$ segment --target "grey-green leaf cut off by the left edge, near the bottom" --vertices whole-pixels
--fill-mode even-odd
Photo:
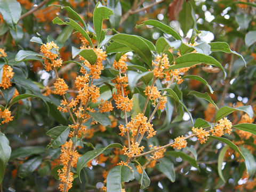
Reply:
[[[0,141],[0,183],[2,183],[4,178],[4,169],[10,159],[12,149],[9,145],[9,140],[1,132]]]

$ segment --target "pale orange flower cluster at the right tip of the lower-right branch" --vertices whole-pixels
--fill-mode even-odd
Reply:
[[[232,123],[225,117],[224,119],[220,119],[219,124],[215,127],[211,128],[210,132],[212,135],[221,137],[224,132],[230,134],[232,131]]]

